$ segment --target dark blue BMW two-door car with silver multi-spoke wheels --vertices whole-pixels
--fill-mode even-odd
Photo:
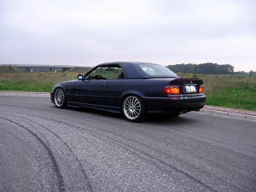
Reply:
[[[167,67],[143,62],[109,62],[78,79],[55,84],[50,92],[57,108],[96,108],[123,113],[139,122],[148,113],[198,111],[205,105],[202,79],[182,79]]]

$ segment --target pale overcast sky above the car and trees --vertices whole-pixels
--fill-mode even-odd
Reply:
[[[256,71],[256,0],[0,0],[0,63]]]

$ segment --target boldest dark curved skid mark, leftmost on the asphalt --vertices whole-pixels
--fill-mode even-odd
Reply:
[[[43,145],[43,147],[45,148],[47,154],[49,155],[50,160],[52,161],[52,164],[53,164],[52,168],[53,168],[53,170],[54,170],[54,172],[55,172],[55,174],[56,174],[57,183],[58,183],[58,189],[59,189],[59,191],[61,191],[61,192],[65,192],[65,191],[66,191],[66,189],[65,189],[65,184],[64,184],[63,177],[62,177],[62,175],[61,175],[60,167],[59,167],[59,165],[58,165],[58,163],[57,163],[57,160],[55,159],[55,156],[54,156],[54,154],[52,153],[51,149],[49,148],[49,146],[48,146],[46,143],[44,143],[44,141],[42,140],[42,138],[38,137],[38,135],[37,135],[36,133],[34,133],[33,131],[27,129],[24,125],[21,125],[21,124],[15,122],[15,121],[13,121],[13,120],[10,120],[10,119],[7,119],[7,118],[3,118],[3,117],[0,117],[0,118],[1,118],[1,119],[5,119],[5,120],[7,120],[7,121],[9,121],[9,122],[11,122],[11,123],[13,123],[13,124],[15,124],[15,125],[20,126],[20,127],[23,128],[23,129],[25,129],[25,130],[28,131],[30,134],[32,134],[32,136],[35,137],[35,138],[38,140],[39,143],[41,143],[41,144]]]

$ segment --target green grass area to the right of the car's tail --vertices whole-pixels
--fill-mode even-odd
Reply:
[[[179,74],[190,78],[190,74]],[[204,80],[207,105],[256,111],[256,77],[197,75]]]

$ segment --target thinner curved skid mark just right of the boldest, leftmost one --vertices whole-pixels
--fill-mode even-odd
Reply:
[[[33,121],[32,119],[28,119],[28,118],[26,118],[26,117],[24,117],[24,116],[20,116],[20,115],[17,115],[17,114],[15,114],[15,113],[11,113],[11,114],[14,115],[15,117],[20,117],[20,118],[22,118],[22,119],[26,119],[26,120],[28,120],[28,121],[31,121],[31,122],[34,123],[34,124],[37,124],[37,125],[43,127],[45,130],[47,130],[47,131],[49,131],[51,134],[53,134],[62,144],[64,144],[64,146],[67,148],[67,150],[68,150],[71,154],[73,154],[74,159],[75,159],[75,160],[77,161],[77,163],[79,164],[79,167],[80,167],[79,170],[82,172],[82,174],[83,174],[83,176],[84,176],[84,180],[86,181],[86,186],[87,186],[88,191],[93,192],[93,188],[92,188],[92,185],[91,185],[91,183],[90,183],[90,178],[88,177],[87,173],[85,172],[84,166],[82,165],[82,163],[81,163],[81,161],[79,160],[78,156],[73,152],[73,149],[70,148],[69,145],[68,145],[60,136],[58,136],[54,131],[49,130],[49,128],[47,128],[46,126],[41,125],[41,124],[38,124],[38,122]],[[26,123],[29,124],[29,125],[32,125],[32,124],[30,124],[30,123],[28,123],[28,122],[26,122]]]

